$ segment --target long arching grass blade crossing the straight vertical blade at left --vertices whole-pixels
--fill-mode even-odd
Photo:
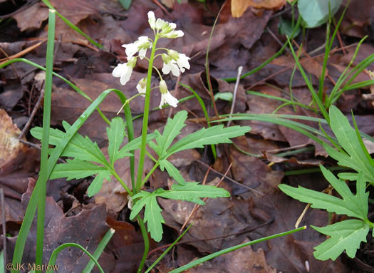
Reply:
[[[63,152],[63,149],[65,149],[66,145],[68,142],[73,138],[73,136],[76,134],[80,126],[85,123],[85,120],[95,111],[96,108],[98,108],[98,105],[104,100],[106,96],[108,96],[109,93],[115,92],[118,97],[120,98],[121,103],[125,103],[126,98],[123,95],[123,93],[117,89],[108,89],[104,91],[103,93],[98,96],[98,98],[91,103],[90,106],[88,106],[87,109],[80,115],[78,120],[71,125],[71,128],[66,132],[66,138],[64,138],[61,143],[58,143],[56,145],[56,148],[53,149],[51,156],[48,159],[48,177],[51,175],[51,172],[54,168],[54,166],[57,163],[58,158],[60,157],[61,153]],[[28,231],[30,230],[31,224],[33,222],[33,217],[35,216],[36,212],[36,206],[38,203],[38,191],[39,188],[41,187],[41,183],[39,182],[40,177],[38,181],[36,181],[36,186],[33,190],[33,193],[31,194],[30,200],[28,202],[28,206],[26,208],[26,214],[24,217],[24,221],[22,222],[21,225],[21,230],[19,231],[18,238],[16,240],[16,247],[14,249],[14,257],[13,257],[13,264],[20,264],[22,260],[22,255],[24,253],[24,247],[28,235]],[[18,272],[16,270],[12,270],[12,272]]]

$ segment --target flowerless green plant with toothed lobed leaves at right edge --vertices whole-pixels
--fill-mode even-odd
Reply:
[[[374,228],[374,223],[368,219],[369,192],[366,191],[368,185],[374,184],[374,160],[366,150],[356,124],[353,129],[346,116],[335,106],[330,107],[329,118],[331,129],[341,148],[336,143],[333,144],[337,150],[326,143],[323,144],[323,148],[331,158],[338,161],[338,165],[349,167],[353,172],[341,172],[337,178],[322,165],[320,168],[341,198],[301,186],[296,188],[279,185],[286,195],[310,203],[313,208],[351,217],[349,220],[326,227],[312,226],[314,230],[329,236],[325,242],[314,247],[314,257],[321,260],[335,260],[343,251],[346,251],[348,257],[354,258],[360,243],[366,242],[369,230]],[[353,122],[355,123],[354,116]],[[351,192],[345,180],[355,181],[355,194]]]

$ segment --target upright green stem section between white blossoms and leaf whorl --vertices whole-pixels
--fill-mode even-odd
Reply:
[[[137,180],[136,180],[136,187],[134,189],[134,194],[137,194],[137,192],[139,192],[140,190],[140,187],[142,187],[142,173],[143,173],[144,158],[145,158],[145,145],[147,144],[148,115],[150,114],[150,82],[152,78],[153,58],[155,57],[157,39],[158,39],[158,35],[156,34],[155,41],[153,42],[153,46],[152,46],[152,52],[150,53],[150,63],[148,65],[147,90],[145,92],[144,115],[143,115],[143,125],[142,125],[142,145],[140,146],[140,157],[139,157],[139,165],[137,166]]]

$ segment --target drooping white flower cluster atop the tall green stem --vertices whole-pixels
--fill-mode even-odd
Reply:
[[[155,32],[157,38],[179,38],[185,35],[183,31],[176,31],[177,27],[174,23],[169,23],[162,19],[155,18],[153,11],[148,12],[148,23],[150,24],[151,29]],[[124,44],[123,47],[126,48],[125,52],[128,56],[127,63],[119,63],[117,67],[114,68],[112,75],[113,77],[120,78],[120,83],[124,86],[130,80],[130,76],[133,73],[133,68],[136,65],[137,57],[142,60],[145,58],[148,48],[152,48],[152,40],[147,36],[140,36],[137,38],[137,41],[134,43]],[[137,56],[134,56],[136,53]],[[167,50],[166,53],[161,55],[162,61],[164,64],[162,66],[162,73],[168,74],[170,71],[174,76],[180,76],[180,73],[185,72],[185,69],[189,69],[189,57],[185,54],[178,53],[174,50]],[[145,96],[147,86],[147,79],[142,78],[142,80],[137,83],[137,91]],[[178,100],[173,97],[170,92],[167,90],[167,85],[164,80],[160,81],[160,93],[161,93],[161,103],[160,108],[165,103],[177,107]]]

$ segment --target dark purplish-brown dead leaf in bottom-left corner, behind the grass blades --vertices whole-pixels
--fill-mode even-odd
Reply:
[[[24,194],[23,205],[26,209],[28,200],[35,183],[30,183],[28,191]],[[78,215],[66,217],[56,202],[51,197],[46,197],[46,220],[44,223],[44,250],[43,263],[48,263],[54,249],[61,244],[74,242],[88,250],[95,252],[96,247],[103,239],[110,227],[105,223],[107,213],[104,206],[96,206],[92,209],[83,209]],[[7,255],[12,257],[16,237],[9,239]],[[35,262],[36,246],[36,218],[34,219],[28,239],[25,244],[22,262]],[[60,272],[82,272],[89,261],[89,257],[76,247],[63,249],[56,259],[58,271]],[[98,262],[105,272],[115,268],[113,254],[103,252]]]

